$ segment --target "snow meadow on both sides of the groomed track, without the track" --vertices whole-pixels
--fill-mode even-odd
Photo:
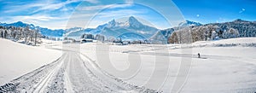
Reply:
[[[60,42],[45,40],[39,46],[19,44],[6,39],[0,39],[0,42],[1,84],[55,61],[61,56],[63,47]],[[182,93],[256,91],[256,38],[231,38],[194,44],[77,45],[79,46],[70,49],[80,48],[76,50],[82,54],[81,58],[92,73],[97,75],[103,70],[112,75],[105,74],[106,76],[101,77],[121,78],[128,84],[166,93],[171,92],[173,86],[180,85],[176,80],[181,80],[182,85],[177,88],[182,87]],[[108,45],[109,49],[101,45]],[[102,51],[109,53],[109,56]],[[198,58],[198,53],[201,58]],[[108,63],[100,61],[103,57],[109,58],[114,69],[101,66],[104,62]],[[183,65],[181,61],[189,64]],[[100,67],[95,67],[92,63]],[[134,64],[139,67],[134,67]],[[178,75],[182,67],[189,70],[183,75],[188,78],[179,79],[183,77]]]

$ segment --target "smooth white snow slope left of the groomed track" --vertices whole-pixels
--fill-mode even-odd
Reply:
[[[0,84],[55,61],[61,51],[19,44],[0,38]]]

